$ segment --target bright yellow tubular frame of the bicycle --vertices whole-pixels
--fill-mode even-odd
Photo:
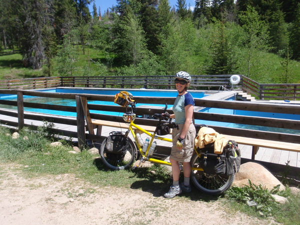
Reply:
[[[139,131],[141,131],[143,133],[146,133],[148,136],[151,137],[151,139],[149,140],[149,144],[147,146],[146,152],[142,151],[142,146],[139,145],[137,137],[136,137],[136,134],[135,134],[135,132],[134,132],[134,130],[133,130],[132,127],[135,127],[137,130],[139,130]],[[167,141],[167,142],[172,142],[172,139],[161,137],[161,136],[157,136],[156,135],[156,129],[155,129],[155,131],[153,133],[150,133],[149,131],[147,131],[147,130],[141,128],[140,126],[138,126],[137,124],[135,124],[133,121],[130,122],[129,128],[126,131],[125,136],[128,135],[129,130],[130,130],[130,132],[131,132],[131,134],[132,134],[132,136],[133,136],[133,138],[134,138],[134,140],[136,142],[137,148],[138,148],[138,150],[139,150],[139,152],[141,154],[141,160],[150,161],[150,162],[154,162],[154,163],[158,163],[158,164],[169,165],[169,166],[171,165],[170,162],[153,158],[152,155],[148,156],[148,151],[149,151],[150,146],[151,146],[151,144],[152,144],[152,142],[153,142],[154,139],[159,139],[159,140],[163,140],[163,141]],[[196,148],[194,148],[194,151],[196,152],[196,154],[199,155],[199,153],[196,150]],[[192,167],[191,169],[192,170],[201,170],[201,171],[203,171],[202,168],[198,168],[198,167]]]

